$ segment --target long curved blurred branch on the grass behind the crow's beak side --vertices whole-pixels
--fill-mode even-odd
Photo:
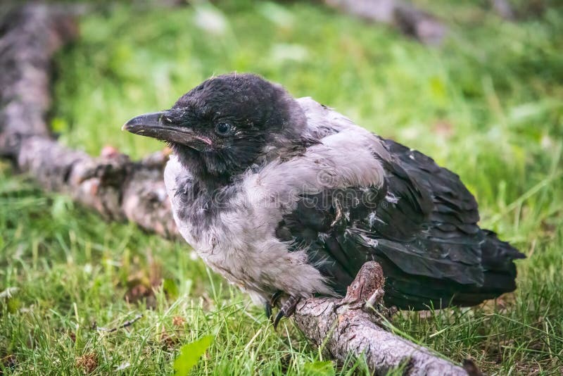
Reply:
[[[6,17],[0,30],[0,156],[44,189],[65,192],[108,220],[130,220],[165,237],[177,237],[156,153],[140,162],[115,150],[99,158],[68,149],[45,122],[51,56],[77,35],[66,6],[27,5]]]

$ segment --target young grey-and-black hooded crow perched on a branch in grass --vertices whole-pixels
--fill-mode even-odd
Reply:
[[[367,261],[384,305],[475,306],[516,289],[524,254],[479,227],[476,199],[429,156],[253,73],[210,77],[122,126],[165,142],[182,237],[266,308],[343,296]]]

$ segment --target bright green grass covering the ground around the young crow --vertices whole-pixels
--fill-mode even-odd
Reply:
[[[51,125],[72,147],[96,154],[111,144],[139,157],[163,146],[120,132],[122,123],[170,107],[210,75],[252,71],[312,96],[460,174],[483,227],[528,256],[515,294],[404,313],[393,330],[492,374],[559,374],[563,9],[506,23],[478,1],[418,3],[447,21],[443,46],[311,4],[112,6],[82,18],[80,39],[58,54]],[[222,27],[198,27],[204,17]],[[82,374],[90,359],[101,374],[169,373],[182,344],[212,334],[194,374],[366,372],[362,361],[317,371],[327,359],[291,321],[274,332],[182,242],[104,223],[0,166],[0,292],[17,288],[0,298],[0,370]],[[138,314],[127,328],[95,329]]]

